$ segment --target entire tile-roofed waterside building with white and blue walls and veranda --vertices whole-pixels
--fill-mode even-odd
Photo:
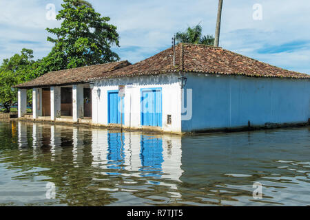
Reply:
[[[52,72],[17,88],[19,117],[33,90],[34,120],[190,133],[310,118],[309,75],[205,45],[179,44],[134,65]]]

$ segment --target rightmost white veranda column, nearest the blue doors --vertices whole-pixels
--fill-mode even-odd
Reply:
[[[72,86],[72,120],[78,122],[84,117],[84,90],[82,85]]]

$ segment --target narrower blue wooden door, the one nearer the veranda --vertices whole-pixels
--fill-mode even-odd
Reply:
[[[121,97],[118,91],[107,92],[107,122],[108,124],[121,124]],[[122,115],[124,124],[124,98],[122,98]]]

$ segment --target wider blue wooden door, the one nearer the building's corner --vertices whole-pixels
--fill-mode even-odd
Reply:
[[[162,126],[161,89],[142,89],[141,125]]]

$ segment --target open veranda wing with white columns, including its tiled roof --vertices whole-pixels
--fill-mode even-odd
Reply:
[[[27,113],[27,90],[32,89],[32,118],[63,122],[92,122],[90,78],[130,65],[128,61],[105,63],[48,72],[15,86],[18,89],[18,116]]]

